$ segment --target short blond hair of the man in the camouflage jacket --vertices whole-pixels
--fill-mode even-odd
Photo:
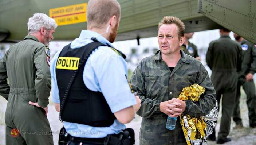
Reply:
[[[174,16],[165,16],[161,22],[159,22],[157,29],[159,29],[163,24],[175,24],[178,27],[179,38],[184,36],[185,24],[179,18]]]

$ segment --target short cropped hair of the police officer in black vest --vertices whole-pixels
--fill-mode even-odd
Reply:
[[[116,0],[89,0],[86,13],[87,28],[103,28],[110,17],[121,17],[121,7]]]

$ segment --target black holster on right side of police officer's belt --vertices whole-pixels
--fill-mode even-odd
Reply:
[[[132,128],[126,128],[118,134],[107,135],[104,145],[134,145],[135,137]]]

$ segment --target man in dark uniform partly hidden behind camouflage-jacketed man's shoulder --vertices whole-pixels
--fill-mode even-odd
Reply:
[[[190,43],[188,41],[190,38],[193,37],[193,35],[194,35],[194,32],[184,33],[185,41],[184,41],[183,45],[181,46],[181,50],[183,50],[184,53],[186,53],[200,61],[201,58],[198,55],[198,50],[197,50],[196,45],[194,45],[193,43]]]

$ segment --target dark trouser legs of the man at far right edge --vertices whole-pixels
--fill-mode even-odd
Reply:
[[[233,112],[233,121],[235,121],[236,124],[242,123],[242,119],[240,117],[240,107],[239,107],[241,86],[243,86],[243,89],[247,97],[246,103],[249,111],[249,123],[250,125],[256,124],[256,92],[255,92],[255,84],[253,80],[250,82],[245,82],[242,85],[241,85],[241,82],[237,83],[237,96],[236,96],[235,108]]]

